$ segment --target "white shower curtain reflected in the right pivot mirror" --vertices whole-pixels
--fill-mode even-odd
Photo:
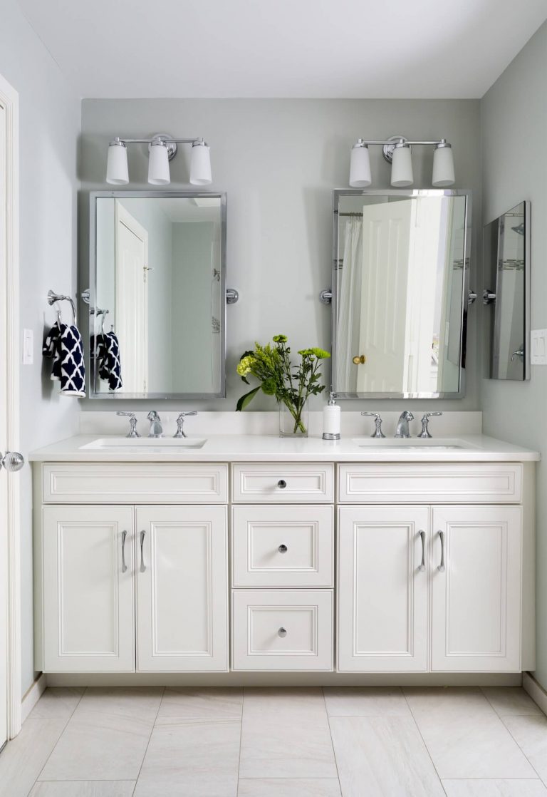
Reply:
[[[359,330],[361,328],[361,248],[362,222],[352,218],[346,222],[344,237],[344,261],[342,274],[338,277],[338,329],[336,391],[338,393],[357,390],[358,369],[352,358],[358,355]],[[340,265],[338,265],[340,269]],[[338,270],[340,275],[340,270]]]

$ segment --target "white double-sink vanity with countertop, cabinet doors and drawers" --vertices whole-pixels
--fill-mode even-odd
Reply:
[[[533,669],[538,458],[480,434],[38,450],[36,667]]]

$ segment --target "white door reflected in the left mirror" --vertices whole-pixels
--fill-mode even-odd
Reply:
[[[115,332],[124,393],[148,384],[148,232],[115,203]]]

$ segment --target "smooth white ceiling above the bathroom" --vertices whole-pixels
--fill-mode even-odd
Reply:
[[[19,0],[84,97],[481,97],[545,0]]]

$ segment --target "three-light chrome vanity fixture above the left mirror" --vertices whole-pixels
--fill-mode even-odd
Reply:
[[[178,144],[192,145],[190,160],[190,183],[207,186],[212,183],[209,144],[201,137],[174,139],[166,133],[157,133],[150,139],[121,139],[116,136],[108,146],[107,183],[126,186],[129,183],[127,169],[127,145],[148,144],[148,182],[153,186],[165,186],[171,182],[169,162],[177,154]]]

